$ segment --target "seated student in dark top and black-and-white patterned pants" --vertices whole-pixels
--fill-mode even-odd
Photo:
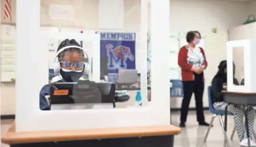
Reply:
[[[213,97],[213,107],[215,110],[224,111],[228,103],[224,102],[223,93],[221,91],[227,88],[227,70],[226,70],[226,60],[221,61],[218,66],[219,71],[212,79],[212,97]],[[233,64],[233,71],[235,71],[235,65]],[[233,72],[234,74],[234,72]],[[234,85],[239,85],[236,78],[233,79]],[[228,112],[234,115],[234,123],[237,129],[237,134],[240,139],[241,146],[248,146],[247,133],[245,131],[244,125],[244,107],[242,105],[229,104]],[[248,125],[250,133],[250,145],[256,146],[256,143],[252,140],[253,138],[253,126],[255,118],[255,110],[249,108],[248,110]]]

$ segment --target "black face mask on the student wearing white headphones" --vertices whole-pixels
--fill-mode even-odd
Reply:
[[[63,72],[60,69],[60,75],[65,82],[77,82],[82,77],[83,72]]]

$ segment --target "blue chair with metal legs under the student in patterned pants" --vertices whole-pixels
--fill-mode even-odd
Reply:
[[[224,123],[223,123],[223,119],[222,119],[222,116],[225,115],[225,111],[217,111],[212,106],[212,101],[213,101],[213,99],[212,99],[212,86],[208,86],[208,98],[209,98],[209,111],[212,112],[213,116],[212,116],[209,128],[207,129],[207,132],[205,134],[204,142],[206,142],[207,137],[209,135],[209,131],[212,128],[211,126],[213,124],[213,120],[215,119],[216,116],[219,116],[221,129],[223,131],[223,135],[225,136],[225,142],[228,144],[228,146],[230,146],[229,142],[228,142],[228,137],[226,136],[226,132],[224,130]],[[232,115],[232,114],[230,112],[228,112],[228,115]],[[236,127],[234,127],[234,129],[232,131],[232,135],[230,137],[230,140],[233,140],[234,132],[236,132]],[[255,134],[254,131],[253,131],[253,135],[254,135],[254,138],[256,139],[256,134]]]

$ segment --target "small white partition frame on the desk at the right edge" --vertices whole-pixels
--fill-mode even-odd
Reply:
[[[245,85],[233,85],[233,48],[244,48],[244,77]],[[256,40],[235,40],[226,43],[226,60],[228,72],[228,91],[255,93],[256,91]],[[235,74],[236,77],[236,74]],[[238,81],[240,82],[240,81]]]

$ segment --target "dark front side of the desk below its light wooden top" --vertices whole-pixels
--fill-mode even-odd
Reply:
[[[174,135],[148,136],[133,138],[112,138],[102,140],[81,140],[62,142],[39,142],[31,144],[15,144],[10,147],[173,147]]]

